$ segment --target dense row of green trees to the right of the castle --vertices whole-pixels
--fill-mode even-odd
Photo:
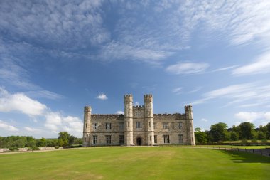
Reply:
[[[198,144],[220,143],[224,141],[267,142],[270,139],[270,122],[265,126],[255,128],[251,122],[242,122],[240,125],[228,128],[224,122],[219,122],[210,127],[209,131],[202,131],[200,127],[195,128],[195,140]]]

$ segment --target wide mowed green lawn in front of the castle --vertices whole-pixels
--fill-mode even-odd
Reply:
[[[269,179],[270,157],[183,147],[92,147],[0,155],[0,179]]]

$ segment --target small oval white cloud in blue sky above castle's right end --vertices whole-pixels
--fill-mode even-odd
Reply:
[[[166,71],[176,75],[198,74],[205,72],[209,66],[207,63],[179,62],[175,65],[169,65]]]

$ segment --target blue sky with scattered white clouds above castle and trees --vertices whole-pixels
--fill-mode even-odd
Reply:
[[[0,1],[0,136],[82,137],[83,107],[270,122],[270,1]]]

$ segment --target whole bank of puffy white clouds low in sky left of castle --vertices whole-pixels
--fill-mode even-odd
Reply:
[[[43,124],[45,129],[36,129],[34,127],[23,127],[27,132],[53,132],[55,134],[67,130],[76,137],[82,136],[83,123],[79,117],[64,116],[61,112],[53,112],[50,108],[33,100],[22,93],[10,94],[4,88],[0,88],[0,112],[18,111],[29,115],[36,120],[38,116],[39,123]],[[45,120],[45,122],[43,122]],[[18,131],[16,127],[0,120],[0,128],[7,131]],[[50,132],[48,132],[50,130]],[[23,132],[21,132],[23,133]]]

